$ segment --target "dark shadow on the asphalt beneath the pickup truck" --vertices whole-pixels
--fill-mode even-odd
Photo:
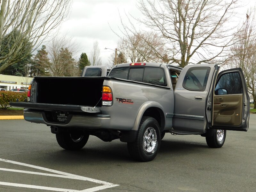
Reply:
[[[189,153],[200,153],[208,146],[202,142],[184,142],[181,140],[162,140],[158,155],[170,156],[175,154],[186,155]],[[34,154],[35,155],[35,154]],[[42,155],[43,161],[53,161],[57,164],[99,164],[102,162],[122,162],[134,161],[127,149],[127,144],[116,141],[110,143],[91,142],[81,150],[69,151],[60,147],[52,148],[52,151],[44,151],[35,156]],[[33,158],[33,155],[30,156]],[[170,158],[170,157],[168,157]]]

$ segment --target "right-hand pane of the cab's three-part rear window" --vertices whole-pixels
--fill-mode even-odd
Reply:
[[[164,70],[162,68],[146,67],[143,82],[155,85],[166,85]]]

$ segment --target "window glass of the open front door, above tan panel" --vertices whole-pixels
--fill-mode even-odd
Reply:
[[[239,73],[223,74],[215,86],[215,95],[243,93],[243,85]]]

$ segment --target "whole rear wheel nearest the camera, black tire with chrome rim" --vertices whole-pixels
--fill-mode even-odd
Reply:
[[[136,140],[127,143],[127,147],[133,159],[146,162],[156,157],[160,143],[158,122],[153,117],[144,116],[140,121]]]

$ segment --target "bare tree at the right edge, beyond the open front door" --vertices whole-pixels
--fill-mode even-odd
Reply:
[[[249,14],[249,15],[248,15]],[[232,67],[240,67],[244,72],[248,92],[251,93],[256,109],[256,16],[254,9],[246,14],[246,21],[238,31],[239,42],[232,46],[234,55]]]

